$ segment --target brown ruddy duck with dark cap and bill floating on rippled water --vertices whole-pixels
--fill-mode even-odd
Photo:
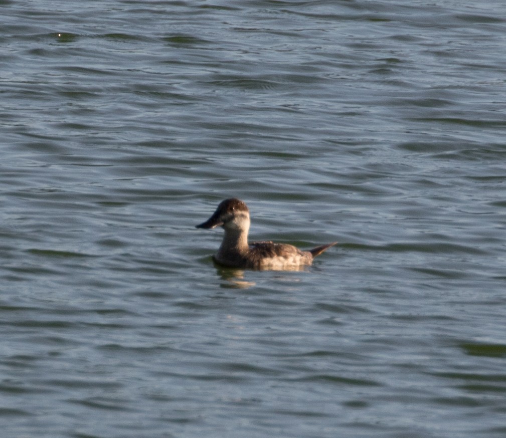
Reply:
[[[196,228],[222,227],[225,236],[218,252],[213,256],[219,265],[229,268],[293,271],[312,264],[313,259],[337,242],[301,251],[293,245],[273,242],[248,244],[249,210],[237,198],[225,199],[214,214]]]

